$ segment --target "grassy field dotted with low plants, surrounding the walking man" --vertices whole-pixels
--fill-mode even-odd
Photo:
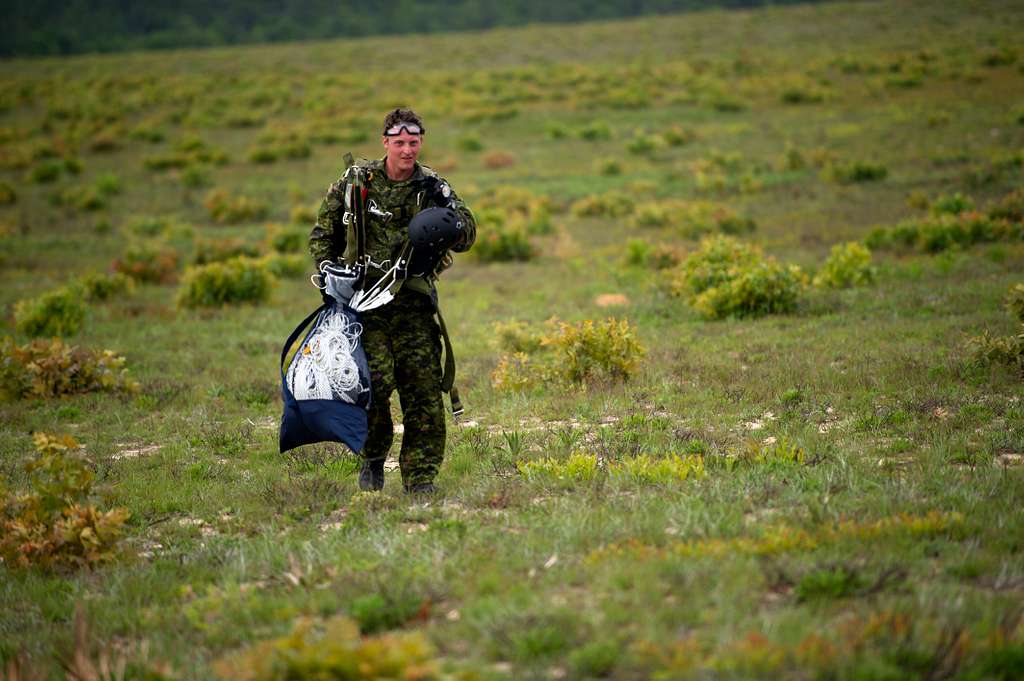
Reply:
[[[4,495],[30,484],[32,433],[68,433],[96,504],[130,513],[95,568],[0,565],[0,659],[1022,678],[1022,376],[970,342],[1021,333],[1021,26],[1011,1],[858,2],[0,62],[0,378],[31,340],[18,301],[177,258],[65,338],[122,355],[136,390],[0,402]],[[278,452],[281,344],[319,300],[301,240],[265,299],[176,302],[189,263],[307,232],[399,104],[480,217],[477,252],[532,249],[492,243],[441,280],[468,411],[430,500],[395,470],[358,493],[340,446]],[[943,231],[998,210],[1001,231]],[[802,268],[785,311],[688,304],[686,258],[723,230]],[[816,286],[847,242],[872,280]],[[642,357],[597,334],[627,369],[566,378],[537,349],[551,317],[626,320]]]

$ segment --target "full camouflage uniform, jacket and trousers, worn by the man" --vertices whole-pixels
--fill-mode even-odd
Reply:
[[[369,170],[367,205],[374,202],[380,210],[392,214],[385,220],[367,211],[366,252],[381,266],[371,267],[367,274],[369,287],[392,264],[388,261],[408,239],[412,217],[432,205],[425,200],[421,187],[424,178],[437,174],[417,163],[409,179],[396,182],[388,178],[383,159],[364,165]],[[309,252],[317,264],[324,260],[351,263],[356,259],[354,225],[342,222],[345,188],[344,178],[339,179],[321,204],[309,236]],[[476,239],[476,221],[454,193],[451,202],[464,225],[463,239],[452,250],[466,251]],[[342,233],[341,230],[345,238],[336,244],[335,235]],[[407,488],[433,481],[444,457],[441,346],[434,318],[435,301],[433,280],[412,278],[393,301],[361,314],[362,347],[370,363],[373,387],[370,436],[362,456],[368,461],[387,457],[394,433],[390,398],[397,389],[404,425],[398,463]]]

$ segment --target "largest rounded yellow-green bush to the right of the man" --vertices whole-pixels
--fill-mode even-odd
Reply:
[[[703,316],[760,316],[791,312],[807,278],[761,250],[731,237],[709,237],[668,278],[672,295],[684,296]]]

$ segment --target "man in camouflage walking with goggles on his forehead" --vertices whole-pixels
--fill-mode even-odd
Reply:
[[[412,110],[396,109],[384,119],[384,158],[360,165],[366,169],[365,252],[369,256],[366,286],[390,267],[408,238],[409,222],[424,208],[451,208],[462,221],[453,251],[468,250],[476,239],[472,212],[437,173],[417,162],[426,129]],[[347,170],[347,169],[346,169]],[[331,185],[309,236],[309,252],[324,260],[354,264],[354,224],[344,223],[346,180]],[[361,313],[362,346],[370,364],[372,403],[369,437],[361,452],[360,490],[384,486],[384,460],[391,449],[391,393],[398,390],[404,432],[398,465],[404,488],[433,494],[434,476],[444,457],[444,406],[441,398],[441,327],[438,326],[436,275],[404,282],[394,300]],[[451,355],[450,355],[451,356]],[[457,400],[453,391],[453,402]]]

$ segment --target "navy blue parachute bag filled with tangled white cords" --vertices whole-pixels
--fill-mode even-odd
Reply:
[[[288,351],[312,322],[285,370]],[[360,452],[367,441],[370,366],[358,314],[337,300],[314,309],[281,350],[281,451],[313,442],[342,442]]]

